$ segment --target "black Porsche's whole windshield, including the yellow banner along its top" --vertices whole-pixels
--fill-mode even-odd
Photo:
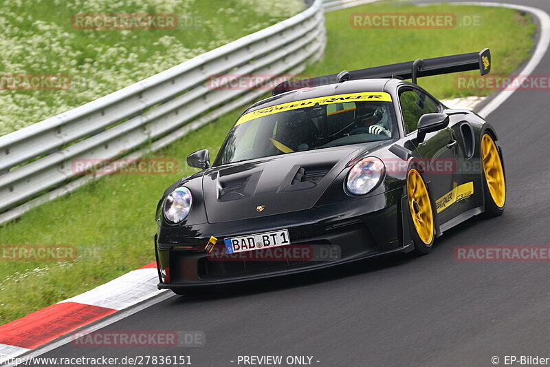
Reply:
[[[340,94],[284,103],[244,114],[215,165],[338,145],[398,138],[391,96]]]

